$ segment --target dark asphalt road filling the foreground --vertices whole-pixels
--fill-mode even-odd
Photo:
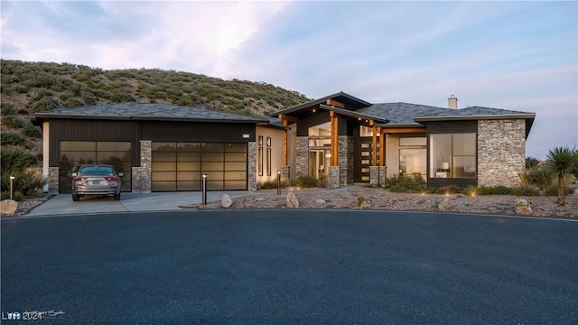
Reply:
[[[574,221],[192,210],[3,219],[1,240],[3,317],[47,311],[25,324],[578,320]]]

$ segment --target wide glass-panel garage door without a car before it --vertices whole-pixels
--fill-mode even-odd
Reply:
[[[247,144],[153,143],[153,191],[247,190]]]

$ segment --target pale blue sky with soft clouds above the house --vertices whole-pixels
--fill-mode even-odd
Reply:
[[[578,2],[5,1],[0,57],[177,70],[322,98],[536,113],[578,144]]]

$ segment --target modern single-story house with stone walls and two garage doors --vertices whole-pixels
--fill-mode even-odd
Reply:
[[[340,92],[269,118],[198,107],[118,103],[37,113],[45,190],[70,192],[70,172],[111,163],[124,191],[256,190],[298,176],[329,187],[423,177],[428,186],[519,184],[535,114],[488,107],[370,104]]]

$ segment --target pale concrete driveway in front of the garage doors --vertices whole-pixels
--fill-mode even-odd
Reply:
[[[256,195],[255,191],[230,190],[210,191],[207,201],[220,200],[223,193],[238,198],[247,195]],[[121,200],[106,197],[82,197],[79,202],[72,201],[70,194],[59,194],[33,209],[27,216],[57,216],[79,215],[111,212],[146,212],[146,211],[174,211],[182,210],[180,206],[201,203],[200,191],[191,192],[155,192],[155,193],[122,193]]]

